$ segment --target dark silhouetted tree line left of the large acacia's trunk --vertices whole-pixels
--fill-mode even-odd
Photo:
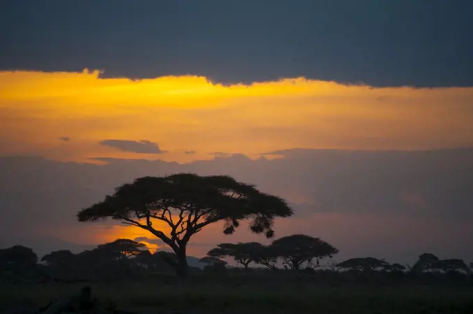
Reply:
[[[129,276],[140,269],[172,272],[173,263],[175,254],[153,254],[143,243],[129,239],[118,239],[79,254],[67,249],[51,251],[41,259],[21,245],[0,249],[0,277],[10,281],[101,280]]]

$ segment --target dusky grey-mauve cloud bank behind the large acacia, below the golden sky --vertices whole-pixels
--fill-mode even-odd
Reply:
[[[289,149],[283,158],[252,160],[241,154],[192,163],[120,160],[104,165],[61,163],[34,157],[0,158],[1,245],[30,243],[62,249],[97,245],[146,231],[116,222],[79,223],[75,214],[140,176],[177,172],[230,174],[287,199],[296,215],[275,223],[276,236],[307,233],[333,242],[339,258],[376,255],[412,263],[424,251],[473,260],[473,148],[431,151]],[[29,220],[18,220],[21,215]],[[125,228],[125,227],[121,227]],[[126,229],[127,230],[127,229]],[[255,240],[245,224],[223,236],[222,224],[192,238],[189,254],[203,256],[218,242]],[[41,240],[42,239],[42,240]],[[154,241],[150,235],[149,240]]]

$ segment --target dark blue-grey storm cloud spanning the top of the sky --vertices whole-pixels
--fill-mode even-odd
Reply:
[[[473,1],[4,1],[0,69],[473,85]]]

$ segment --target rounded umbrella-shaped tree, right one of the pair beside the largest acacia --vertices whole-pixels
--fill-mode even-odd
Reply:
[[[292,270],[300,270],[303,265],[314,268],[319,265],[319,258],[332,257],[338,253],[338,249],[327,242],[303,234],[279,238],[270,247],[282,259],[282,265]],[[314,259],[316,265],[312,263]]]

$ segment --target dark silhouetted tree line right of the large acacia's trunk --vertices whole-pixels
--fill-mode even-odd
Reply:
[[[342,263],[321,264],[323,258],[332,258],[339,251],[327,242],[296,234],[274,240],[271,245],[265,246],[258,242],[221,243],[207,252],[208,258],[232,258],[243,268],[248,269],[250,263],[278,270],[278,263],[286,270],[315,270],[323,268],[339,272],[340,270],[353,272],[463,272],[470,274],[473,263],[467,265],[463,260],[450,258],[441,260],[433,254],[424,253],[411,266],[399,263],[388,263],[384,259],[374,257],[350,258]],[[217,264],[214,260],[213,264]]]

